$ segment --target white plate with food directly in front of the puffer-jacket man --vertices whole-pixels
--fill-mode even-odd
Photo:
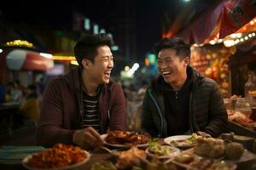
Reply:
[[[193,133],[192,135],[170,136],[164,139],[164,142],[177,148],[190,148],[195,146],[197,137],[198,135],[196,133]]]

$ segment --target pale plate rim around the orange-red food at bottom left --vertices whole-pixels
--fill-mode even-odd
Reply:
[[[23,167],[26,167],[29,170],[67,170],[67,169],[73,169],[74,167],[79,167],[80,165],[83,165],[86,161],[90,160],[90,153],[87,152],[86,150],[84,150],[84,153],[86,154],[86,158],[84,159],[84,161],[80,161],[79,163],[67,166],[67,167],[49,167],[49,168],[38,168],[38,167],[29,167],[26,165],[26,162],[32,158],[32,155],[26,156],[23,160],[22,160],[22,165]]]

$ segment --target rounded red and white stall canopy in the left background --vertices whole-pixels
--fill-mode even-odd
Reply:
[[[54,62],[37,52],[15,49],[6,55],[6,65],[13,71],[47,71],[54,67]]]

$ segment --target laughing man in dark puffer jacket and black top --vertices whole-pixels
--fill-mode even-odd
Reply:
[[[198,131],[217,137],[225,129],[227,112],[217,83],[189,66],[190,45],[171,37],[154,50],[159,76],[143,99],[143,130],[153,137]]]

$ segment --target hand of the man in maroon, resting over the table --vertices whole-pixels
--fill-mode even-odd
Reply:
[[[73,143],[84,150],[94,150],[104,144],[104,140],[93,127],[86,127],[73,133]]]

